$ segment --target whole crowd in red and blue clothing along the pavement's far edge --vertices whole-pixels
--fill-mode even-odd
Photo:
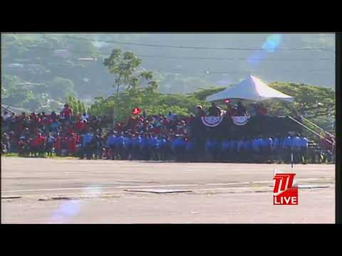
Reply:
[[[266,114],[262,105],[255,114]],[[195,117],[219,116],[222,110],[214,103],[207,112],[197,106],[195,114],[180,117],[133,112],[126,122],[112,127],[112,120],[87,113],[74,114],[65,105],[60,113],[3,112],[1,115],[2,152],[19,156],[78,156],[81,159],[139,159],[196,161],[204,151],[218,161],[295,161],[308,159],[308,139],[300,134],[288,137],[242,137],[223,141],[207,139],[199,146],[192,138],[190,125]],[[225,115],[247,114],[241,102],[229,107]],[[253,112],[249,113],[253,114]]]

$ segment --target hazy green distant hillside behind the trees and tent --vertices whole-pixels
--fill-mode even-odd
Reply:
[[[68,95],[88,102],[107,97],[114,92],[115,81],[103,58],[114,48],[135,52],[165,93],[233,85],[249,74],[266,82],[334,89],[334,46],[333,34],[309,33],[3,34],[1,99],[16,107],[35,108],[48,100],[64,102]]]

